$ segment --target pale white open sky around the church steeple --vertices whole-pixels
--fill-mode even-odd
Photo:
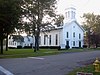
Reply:
[[[57,4],[57,11],[64,15],[67,7],[74,6],[76,8],[76,19],[82,24],[83,13],[100,14],[100,1],[99,0],[59,0]]]

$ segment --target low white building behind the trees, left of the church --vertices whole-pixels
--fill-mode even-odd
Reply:
[[[10,35],[8,36],[8,47],[9,48],[29,48],[32,47],[33,37],[21,36],[21,35]]]

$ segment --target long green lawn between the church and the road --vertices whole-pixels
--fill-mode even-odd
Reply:
[[[0,55],[0,58],[24,58],[24,57],[36,57],[36,56],[45,56],[45,55],[55,55],[60,53],[67,52],[82,52],[83,49],[69,49],[69,50],[57,50],[57,49],[40,49],[37,52],[34,52],[33,49],[9,49],[4,51],[3,55]]]

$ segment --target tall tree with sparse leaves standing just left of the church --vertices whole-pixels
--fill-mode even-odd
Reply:
[[[55,4],[56,0],[24,0],[22,8],[24,9],[25,17],[30,21],[28,27],[31,28],[29,29],[29,32],[35,36],[34,52],[39,50],[40,30],[51,24],[48,21],[44,23],[43,18],[46,15],[55,17]]]

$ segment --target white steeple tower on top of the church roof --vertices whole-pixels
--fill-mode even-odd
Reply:
[[[65,9],[65,20],[75,20],[76,19],[76,9],[74,7],[69,7]]]

